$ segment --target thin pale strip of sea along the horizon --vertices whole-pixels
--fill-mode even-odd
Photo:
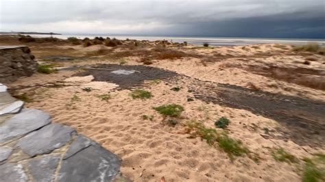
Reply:
[[[30,35],[33,37],[49,37],[50,35]],[[83,38],[95,38],[96,36],[117,38],[120,40],[125,40],[126,38],[134,40],[169,40],[171,42],[187,42],[189,44],[202,45],[208,43],[211,46],[236,46],[236,45],[248,45],[248,44],[294,44],[302,45],[308,44],[310,42],[315,42],[321,46],[325,46],[325,39],[291,39],[291,38],[220,38],[220,37],[176,37],[176,36],[115,36],[115,35],[94,35],[94,34],[84,34],[84,35],[53,35],[53,37],[67,39],[69,37]]]

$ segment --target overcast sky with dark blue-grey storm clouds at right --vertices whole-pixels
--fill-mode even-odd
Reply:
[[[325,38],[325,1],[0,0],[0,31]]]

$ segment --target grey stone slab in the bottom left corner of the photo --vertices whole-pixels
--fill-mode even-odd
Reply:
[[[21,164],[9,163],[0,166],[0,181],[25,182],[28,181],[28,177]]]

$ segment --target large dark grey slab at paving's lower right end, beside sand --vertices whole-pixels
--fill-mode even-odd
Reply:
[[[94,144],[62,160],[58,181],[112,181],[120,168],[117,155]]]

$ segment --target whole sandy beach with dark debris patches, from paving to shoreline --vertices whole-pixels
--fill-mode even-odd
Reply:
[[[304,159],[324,157],[322,53],[288,44],[0,40],[27,45],[40,65],[57,69],[9,83],[10,92],[121,157],[121,172],[132,181],[301,181]],[[130,73],[114,73],[121,70]],[[136,89],[152,97],[134,99]],[[171,104],[184,108],[180,116],[154,109]],[[222,117],[230,120],[224,129],[215,125]],[[193,137],[191,122],[240,140],[248,152],[232,158],[217,142]],[[294,160],[274,157],[280,148]]]

